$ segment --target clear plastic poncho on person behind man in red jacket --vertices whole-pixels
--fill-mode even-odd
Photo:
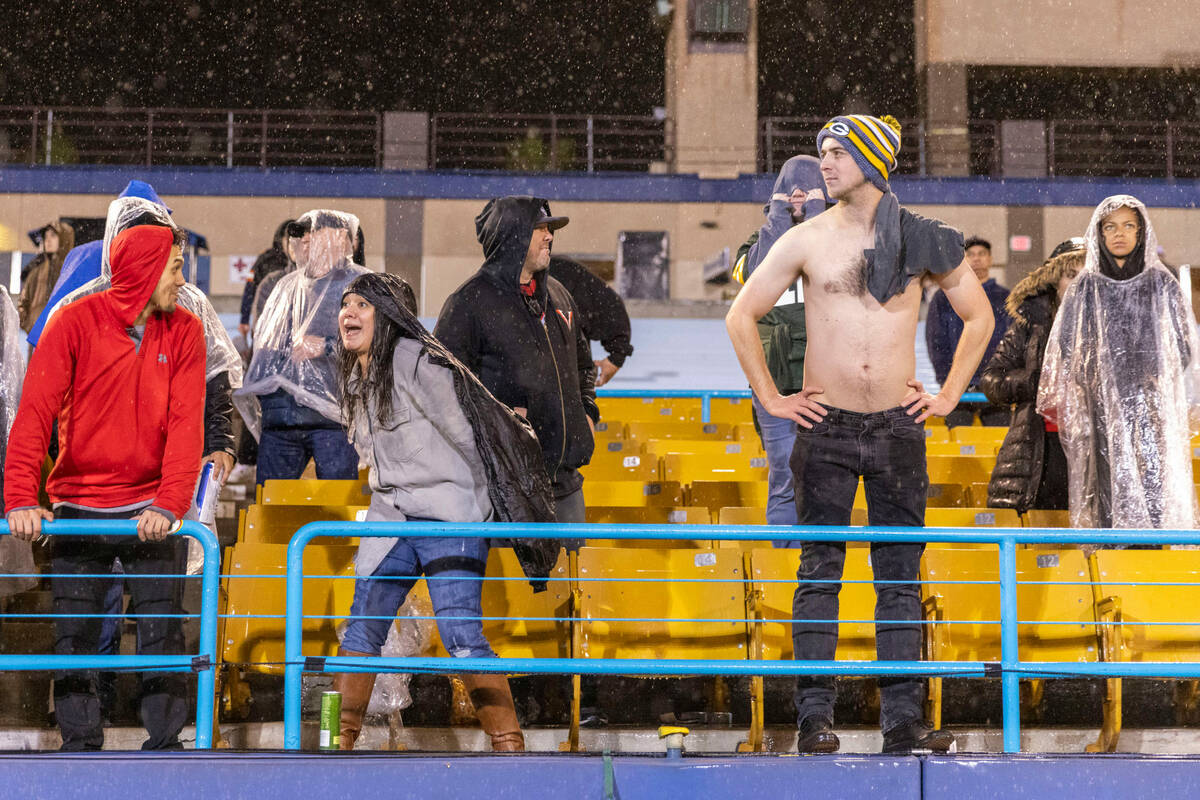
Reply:
[[[139,197],[122,197],[113,200],[108,205],[108,219],[104,223],[104,245],[101,255],[100,277],[89,281],[62,300],[50,312],[53,315],[59,308],[74,302],[79,297],[85,297],[97,291],[103,291],[113,285],[113,265],[108,260],[108,248],[118,234],[124,231],[138,217],[149,213],[163,224],[174,225],[170,213],[163,206]],[[185,283],[179,290],[179,305],[196,314],[204,324],[204,344],[206,347],[204,362],[204,380],[208,383],[222,372],[229,373],[229,385],[233,389],[241,386],[242,363],[238,349],[233,345],[228,331],[221,324],[216,308],[209,302],[208,296],[191,283]]]

